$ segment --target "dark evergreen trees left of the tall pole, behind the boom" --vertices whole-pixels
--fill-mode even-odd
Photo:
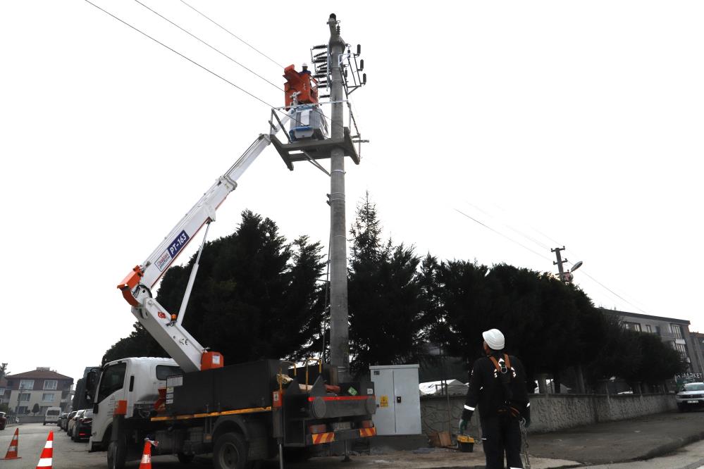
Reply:
[[[272,220],[244,211],[233,235],[206,243],[184,327],[226,364],[296,358],[321,330],[321,249],[306,236],[288,243]],[[179,311],[194,261],[163,277],[156,299],[170,313]],[[137,323],[103,360],[145,354],[166,356]]]

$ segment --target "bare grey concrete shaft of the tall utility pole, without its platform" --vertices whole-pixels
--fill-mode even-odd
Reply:
[[[345,41],[340,37],[340,26],[335,13],[328,19],[330,27],[329,57],[332,102],[331,137],[343,139],[344,85],[340,57]],[[330,166],[330,363],[333,382],[342,382],[350,375],[350,330],[347,323],[347,232],[345,230],[345,151],[336,147],[331,151]]]

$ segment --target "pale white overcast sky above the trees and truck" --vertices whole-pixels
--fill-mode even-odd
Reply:
[[[371,143],[346,162],[348,225],[369,191],[385,235],[419,255],[556,272],[550,248],[564,245],[596,305],[704,330],[701,2],[186,0],[270,61],[181,1],[141,1],[278,85],[279,65],[309,61],[337,13],[368,75],[351,96]],[[136,1],[95,3],[283,105]],[[86,1],[4,1],[0,41],[0,360],[78,379],[132,330],[116,284],[270,110]],[[327,192],[321,171],[290,172],[270,147],[209,238],[249,208],[289,239],[326,242]]]

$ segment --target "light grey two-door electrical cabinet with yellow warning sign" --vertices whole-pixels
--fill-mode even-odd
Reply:
[[[421,433],[418,368],[419,365],[369,367],[376,394],[376,413],[372,417],[376,434]]]

